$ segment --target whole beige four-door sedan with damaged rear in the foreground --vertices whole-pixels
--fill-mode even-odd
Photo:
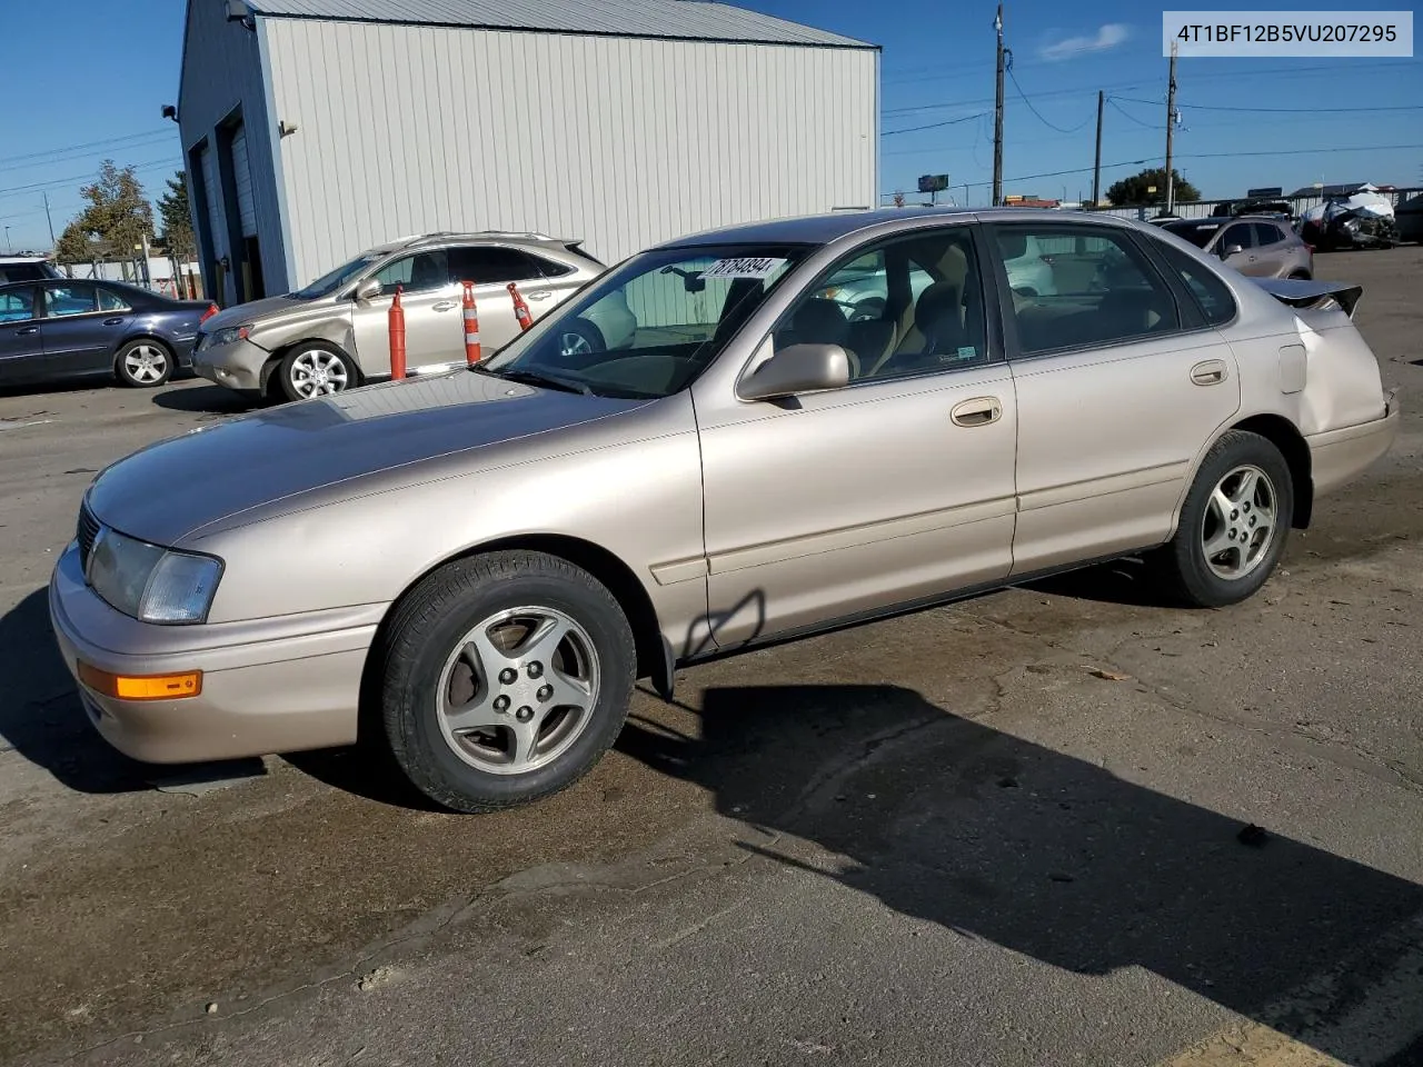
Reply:
[[[1049,293],[1010,287],[1025,255]],[[884,303],[850,316],[825,293],[867,269]],[[531,801],[635,679],[709,654],[1133,553],[1187,603],[1251,596],[1397,431],[1359,296],[1060,212],[683,238],[481,366],[107,468],[54,630],[141,760],[361,741],[450,808]],[[564,344],[605,302],[628,343]]]

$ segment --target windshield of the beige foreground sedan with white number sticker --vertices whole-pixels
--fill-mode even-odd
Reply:
[[[666,397],[716,360],[811,245],[643,252],[472,370],[608,397]]]

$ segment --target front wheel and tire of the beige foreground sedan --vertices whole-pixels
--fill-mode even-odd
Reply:
[[[381,713],[397,765],[461,812],[568,788],[622,731],[636,652],[618,600],[539,552],[457,561],[391,617]]]

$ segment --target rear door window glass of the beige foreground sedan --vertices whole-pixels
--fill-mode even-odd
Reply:
[[[1020,354],[1117,344],[1181,329],[1170,286],[1126,233],[1016,223],[996,226],[995,233]],[[1025,248],[1037,249],[1037,259],[1025,259]]]

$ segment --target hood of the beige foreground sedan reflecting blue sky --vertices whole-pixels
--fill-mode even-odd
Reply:
[[[134,452],[85,499],[124,534],[176,545],[195,531],[297,494],[565,430],[647,404],[535,388],[457,370],[306,400]],[[411,472],[410,479],[421,475]]]

